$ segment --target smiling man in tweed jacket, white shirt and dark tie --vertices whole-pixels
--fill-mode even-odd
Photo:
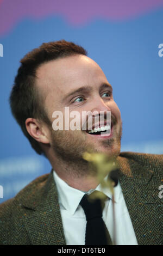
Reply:
[[[120,163],[115,187],[117,245],[161,245],[162,155],[120,153],[122,121],[112,87],[84,48],[65,40],[42,44],[22,60],[10,95],[11,111],[38,154],[52,165],[17,196],[0,206],[0,243],[7,245],[85,245],[85,193],[103,191],[96,171],[89,172],[83,153],[104,153]],[[54,111],[77,111],[80,129],[53,129]],[[83,130],[82,113],[90,111],[93,127]],[[111,112],[111,130],[95,131],[95,118]],[[56,116],[55,116],[56,117]],[[70,118],[71,119],[71,118]],[[70,121],[70,120],[69,120]],[[107,123],[99,124],[99,127]],[[99,128],[98,127],[98,128]],[[107,126],[109,127],[109,126]],[[104,192],[104,191],[103,191]],[[103,221],[113,239],[109,190]],[[98,230],[97,230],[98,233]]]

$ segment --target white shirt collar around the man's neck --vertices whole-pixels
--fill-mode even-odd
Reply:
[[[82,199],[85,193],[90,194],[91,192],[98,190],[106,194],[106,196],[108,196],[110,199],[112,199],[110,190],[108,188],[103,188],[101,184],[99,184],[95,188],[95,190],[89,190],[88,192],[84,192],[69,186],[64,180],[62,180],[58,176],[58,174],[54,170],[53,170],[53,177],[58,190],[59,204],[61,204],[67,211],[69,211],[71,215],[73,215],[74,212],[76,212],[79,206],[80,200]],[[105,179],[107,179],[107,177],[108,176],[106,176]],[[120,192],[121,192],[121,186],[120,186],[120,182],[118,182],[118,185],[114,188],[114,199],[116,203],[118,202],[118,199],[120,197]]]

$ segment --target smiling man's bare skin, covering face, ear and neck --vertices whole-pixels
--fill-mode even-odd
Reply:
[[[95,152],[118,156],[122,130],[120,110],[112,97],[112,87],[103,71],[89,57],[76,54],[40,65],[37,68],[35,87],[44,97],[49,126],[47,123],[39,126],[36,120],[27,118],[28,133],[37,142],[42,143],[42,150],[55,172],[68,185],[83,191],[90,189],[90,182],[93,188],[96,187],[93,179],[89,180],[87,177],[89,173],[87,163],[82,157],[83,153],[92,149]],[[84,111],[96,111],[98,114],[111,111],[114,123],[111,135],[105,137],[83,131],[82,120],[80,130],[54,131],[53,112],[64,113],[65,107],[69,107],[70,113],[78,111],[81,119]]]

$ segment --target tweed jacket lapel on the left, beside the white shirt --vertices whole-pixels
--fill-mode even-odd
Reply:
[[[33,245],[66,245],[53,172],[40,186],[30,200],[23,202],[24,227]]]

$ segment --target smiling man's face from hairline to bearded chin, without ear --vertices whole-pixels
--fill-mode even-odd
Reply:
[[[52,60],[37,70],[36,86],[45,97],[44,106],[51,123],[54,111],[61,111],[65,120],[65,107],[69,107],[70,113],[78,111],[80,114],[80,130],[54,131],[52,126],[49,127],[55,156],[78,161],[85,151],[110,156],[120,153],[121,113],[112,97],[112,87],[96,62],[83,55]],[[92,135],[82,130],[83,111],[96,111],[98,114],[111,111],[111,135]]]

